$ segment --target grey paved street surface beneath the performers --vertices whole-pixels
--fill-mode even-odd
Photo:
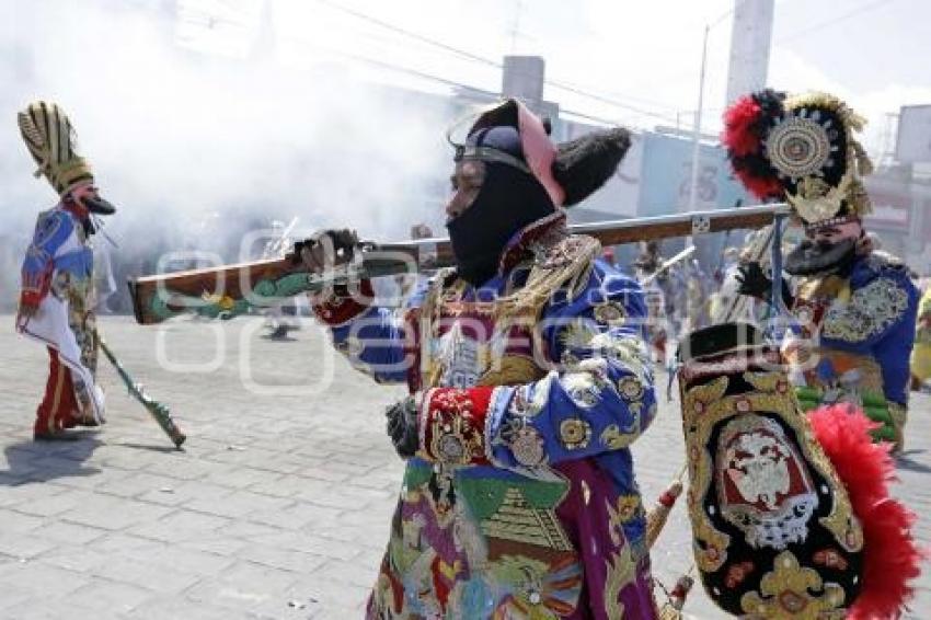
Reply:
[[[107,342],[187,433],[185,451],[103,358],[110,423],[74,444],[34,444],[47,360],[12,324],[0,317],[0,618],[361,617],[402,471],[382,407],[402,389],[330,355],[310,323],[295,342],[272,342],[255,318],[162,328],[106,318]],[[929,405],[913,401],[897,486],[926,544]],[[683,461],[675,402],[634,451],[652,503]],[[654,550],[660,581],[688,570],[689,540],[680,505]],[[929,575],[913,618],[931,617]],[[721,617],[701,592],[687,611]]]

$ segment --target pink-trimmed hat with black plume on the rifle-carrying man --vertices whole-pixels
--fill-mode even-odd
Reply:
[[[461,124],[461,123],[460,123]],[[452,138],[457,124],[447,133],[456,148],[456,160],[479,159],[506,163],[532,174],[558,207],[571,207],[590,196],[614,173],[631,145],[630,133],[617,127],[554,143],[548,119],[540,119],[518,100],[508,99],[478,116],[468,137],[491,127],[513,127],[519,145],[501,149]]]

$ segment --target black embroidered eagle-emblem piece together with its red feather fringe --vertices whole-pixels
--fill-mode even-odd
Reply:
[[[747,323],[679,349],[689,519],[721,609],[759,620],[897,618],[921,552],[894,464],[849,405],[804,415],[779,347]]]

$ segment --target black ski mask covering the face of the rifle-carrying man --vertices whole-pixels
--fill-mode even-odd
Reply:
[[[473,145],[519,159],[520,138],[513,127],[492,127],[470,137]],[[481,158],[485,164],[482,188],[473,203],[447,222],[459,277],[481,286],[497,273],[507,242],[526,226],[555,211],[549,194],[528,171]]]

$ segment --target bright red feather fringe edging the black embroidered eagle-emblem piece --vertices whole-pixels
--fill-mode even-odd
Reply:
[[[851,405],[819,407],[808,423],[863,526],[863,585],[847,618],[897,618],[913,594],[909,582],[921,572],[924,553],[911,535],[915,515],[889,496],[889,445],[873,443],[870,430],[878,424]]]

